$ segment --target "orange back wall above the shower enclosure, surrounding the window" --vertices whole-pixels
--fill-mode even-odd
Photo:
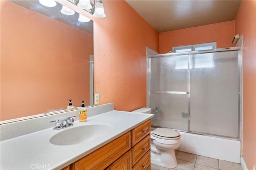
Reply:
[[[168,53],[175,46],[215,41],[217,48],[234,47],[231,43],[235,34],[234,26],[235,21],[227,21],[160,33],[160,53]]]

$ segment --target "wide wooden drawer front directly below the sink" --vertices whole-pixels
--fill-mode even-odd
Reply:
[[[103,170],[131,148],[130,131],[74,163],[75,170]]]

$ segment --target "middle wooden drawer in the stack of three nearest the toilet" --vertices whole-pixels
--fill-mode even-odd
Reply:
[[[150,135],[146,136],[139,143],[137,143],[134,147],[132,147],[132,166],[146,154],[150,150]]]

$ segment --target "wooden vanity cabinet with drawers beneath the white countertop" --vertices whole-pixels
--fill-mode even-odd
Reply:
[[[150,170],[150,120],[63,170]]]

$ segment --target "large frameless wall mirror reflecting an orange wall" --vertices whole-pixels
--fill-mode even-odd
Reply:
[[[58,3],[0,3],[0,121],[64,110],[68,99],[92,104],[93,21],[62,14]]]

